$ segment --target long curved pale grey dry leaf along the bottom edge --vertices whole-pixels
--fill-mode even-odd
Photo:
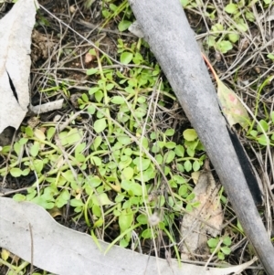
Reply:
[[[0,248],[30,262],[33,241],[33,264],[58,275],[227,275],[247,269],[256,260],[205,269],[186,263],[180,268],[175,260],[156,259],[118,246],[104,254],[108,243],[99,240],[97,245],[89,235],[59,225],[41,206],[5,197],[0,197],[0,205]]]

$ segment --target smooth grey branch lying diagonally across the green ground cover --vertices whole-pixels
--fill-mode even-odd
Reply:
[[[163,72],[189,121],[205,145],[229,201],[269,275],[274,274],[274,249],[258,215],[240,168],[227,124],[216,99],[216,90],[205,68],[193,31],[179,0],[130,0]]]

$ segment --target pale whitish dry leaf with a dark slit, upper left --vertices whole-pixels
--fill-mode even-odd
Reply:
[[[17,129],[26,116],[36,12],[34,0],[20,0],[0,21],[0,133],[8,126]]]

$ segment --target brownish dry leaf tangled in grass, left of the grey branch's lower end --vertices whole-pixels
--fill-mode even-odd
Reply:
[[[193,203],[199,203],[191,212],[186,212],[181,224],[183,236],[181,252],[182,259],[192,259],[192,255],[209,253],[208,236],[221,234],[223,211],[218,195],[219,188],[205,161],[204,171],[199,172],[198,181],[193,193]]]

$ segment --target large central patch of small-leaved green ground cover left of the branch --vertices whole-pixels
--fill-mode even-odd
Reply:
[[[132,243],[133,232],[140,239],[164,232],[175,244],[171,228],[184,207],[195,206],[189,180],[203,165],[204,147],[193,129],[174,142],[175,130],[161,126],[157,117],[174,101],[168,84],[158,81],[159,66],[143,58],[140,41],[118,43],[121,62],[134,65],[123,71],[112,69],[109,58],[90,49],[98,66],[87,74],[97,84],[79,97],[80,111],[90,115],[89,131],[75,124],[75,113],[62,130],[53,122],[34,129],[22,126],[21,138],[1,152],[10,158],[0,175],[34,173],[36,183],[26,194],[16,194],[16,200],[47,210],[69,206],[91,234],[117,224],[120,235],[113,243],[123,247]]]

